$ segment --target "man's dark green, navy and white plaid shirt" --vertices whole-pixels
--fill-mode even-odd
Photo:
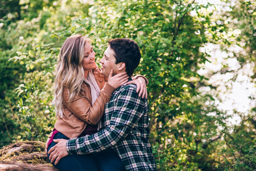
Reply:
[[[138,96],[136,85],[123,85],[114,91],[102,121],[98,133],[67,141],[68,153],[83,155],[113,147],[126,170],[156,170],[148,141],[148,100]]]

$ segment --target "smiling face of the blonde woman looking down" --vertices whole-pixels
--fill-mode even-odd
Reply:
[[[82,61],[82,66],[84,71],[89,71],[90,69],[96,68],[95,52],[88,42],[84,44],[84,59]]]

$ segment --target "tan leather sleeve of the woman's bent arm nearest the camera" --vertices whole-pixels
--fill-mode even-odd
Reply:
[[[75,94],[75,99],[69,102],[68,90],[65,87],[63,93],[64,104],[72,112],[69,115],[74,114],[86,123],[97,124],[105,112],[105,104],[109,102],[114,91],[115,88],[106,82],[105,86],[100,90],[99,97],[91,106],[87,98],[83,97],[81,93]]]

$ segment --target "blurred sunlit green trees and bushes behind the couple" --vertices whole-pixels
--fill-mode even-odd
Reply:
[[[138,42],[159,170],[255,170],[255,0],[1,0],[0,147],[45,141],[54,70],[75,33],[97,62]]]

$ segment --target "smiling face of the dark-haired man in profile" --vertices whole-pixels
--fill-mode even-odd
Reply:
[[[113,76],[118,74],[118,64],[115,64],[114,50],[108,47],[104,52],[104,57],[100,59],[100,63],[102,64],[101,74],[105,77],[109,76],[111,69],[114,70]]]

